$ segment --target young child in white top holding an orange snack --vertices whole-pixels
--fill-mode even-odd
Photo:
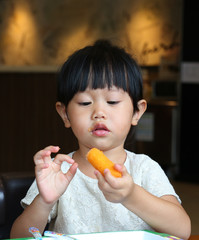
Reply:
[[[148,229],[189,237],[190,219],[163,170],[124,149],[146,110],[141,74],[128,53],[100,40],[71,55],[59,74],[56,109],[79,149],[53,161],[57,146],[36,153],[36,182],[22,200],[12,238],[28,237],[32,226],[43,232],[47,221],[65,234]],[[121,178],[92,167],[86,154],[93,147],[115,163]]]

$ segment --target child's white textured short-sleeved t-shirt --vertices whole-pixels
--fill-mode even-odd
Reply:
[[[127,152],[125,167],[136,184],[151,194],[161,197],[175,193],[164,171],[157,162],[144,154]],[[69,156],[72,157],[73,153]],[[69,164],[62,164],[66,172]],[[29,205],[38,194],[36,181],[22,199],[23,207]],[[77,234],[122,230],[152,230],[141,218],[120,203],[107,201],[98,188],[98,181],[84,175],[79,169],[65,193],[54,205],[50,216],[49,229],[52,231]]]

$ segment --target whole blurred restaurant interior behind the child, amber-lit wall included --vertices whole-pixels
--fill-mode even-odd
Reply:
[[[159,162],[182,194],[182,182],[198,191],[198,11],[188,0],[0,0],[0,172],[34,171],[50,144],[77,148],[55,111],[57,72],[106,38],[143,73],[148,109],[126,148]]]

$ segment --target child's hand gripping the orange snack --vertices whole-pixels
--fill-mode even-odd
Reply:
[[[95,175],[98,179],[99,189],[103,192],[106,200],[122,203],[132,193],[134,182],[125,166],[115,164],[115,168],[122,173],[121,178],[112,176],[109,169],[104,170],[104,176],[97,170]]]

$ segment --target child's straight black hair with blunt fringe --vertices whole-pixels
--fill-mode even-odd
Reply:
[[[57,100],[67,107],[77,92],[116,86],[128,92],[134,110],[142,99],[142,76],[136,61],[124,49],[108,40],[84,47],[63,64],[58,75]]]

